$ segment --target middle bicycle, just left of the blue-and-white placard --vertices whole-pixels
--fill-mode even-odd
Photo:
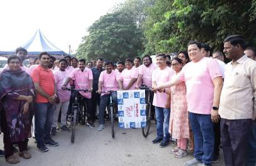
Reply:
[[[112,100],[112,93],[113,92],[117,92],[117,91],[102,91],[102,93],[107,93],[107,94],[110,94],[110,102],[109,102],[109,111],[110,111],[110,123],[111,123],[111,133],[112,133],[112,138],[115,138],[115,127],[114,127],[114,124],[115,124],[115,105],[113,103],[113,100]]]

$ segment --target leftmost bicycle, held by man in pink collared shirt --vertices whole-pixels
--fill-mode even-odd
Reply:
[[[76,131],[76,123],[85,124],[86,121],[86,113],[84,109],[86,108],[86,103],[81,102],[82,97],[79,96],[79,91],[88,92],[88,89],[74,89],[66,87],[67,91],[76,91],[76,97],[72,104],[72,114],[71,114],[71,143],[74,143],[75,131]],[[82,104],[79,104],[82,103]]]

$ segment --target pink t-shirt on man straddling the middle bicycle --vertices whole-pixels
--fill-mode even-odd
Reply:
[[[107,74],[107,71],[104,70],[100,74],[99,82],[102,82],[102,91],[117,91],[119,90],[119,85],[117,80],[120,79],[120,75],[117,71],[112,70],[110,74]],[[102,93],[102,96],[105,93]]]

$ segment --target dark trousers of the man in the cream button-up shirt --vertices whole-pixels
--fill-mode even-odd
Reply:
[[[252,119],[221,118],[221,141],[226,166],[246,166],[251,124]]]

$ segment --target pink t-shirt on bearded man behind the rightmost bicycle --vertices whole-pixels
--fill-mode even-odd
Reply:
[[[157,67],[158,66],[154,63],[149,67],[146,67],[145,65],[141,65],[141,67],[139,67],[139,74],[143,75],[143,84],[145,86],[152,87],[152,72]]]

